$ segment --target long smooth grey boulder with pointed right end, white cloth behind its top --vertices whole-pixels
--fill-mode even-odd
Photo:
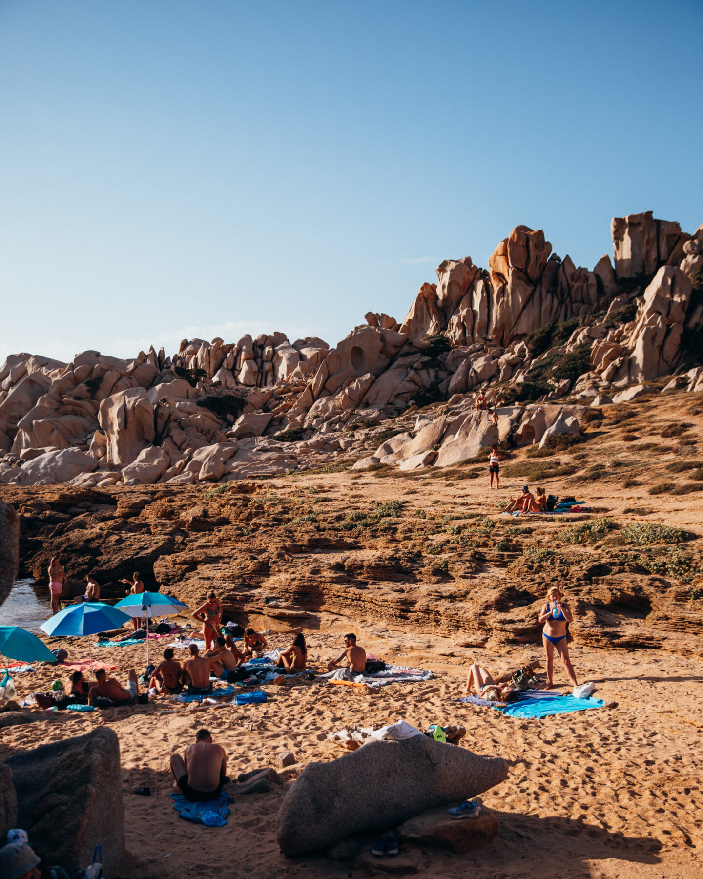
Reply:
[[[283,854],[313,852],[481,794],[507,774],[500,757],[425,736],[370,742],[329,763],[308,763],[280,807],[276,839]]]

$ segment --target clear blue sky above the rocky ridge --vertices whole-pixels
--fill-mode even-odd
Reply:
[[[402,319],[518,223],[703,222],[703,4],[2,0],[0,361]]]

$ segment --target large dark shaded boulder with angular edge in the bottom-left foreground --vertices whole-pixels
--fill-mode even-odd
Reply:
[[[109,727],[40,745],[6,761],[17,791],[18,826],[34,850],[69,875],[102,846],[105,875],[117,875],[125,842],[120,743]]]

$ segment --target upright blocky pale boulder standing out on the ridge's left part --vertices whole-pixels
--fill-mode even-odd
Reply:
[[[100,403],[98,422],[107,437],[110,467],[131,464],[142,448],[154,442],[154,407],[143,388],[108,396]]]

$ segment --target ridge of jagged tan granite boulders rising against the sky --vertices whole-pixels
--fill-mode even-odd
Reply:
[[[446,467],[573,432],[579,404],[663,375],[703,389],[703,226],[631,214],[612,221],[612,242],[613,262],[589,271],[518,226],[489,270],[445,260],[402,323],[369,312],[332,349],[275,332],[131,361],[13,354],[0,369],[0,483],[226,483],[364,457]],[[478,389],[497,424],[472,412]],[[556,400],[547,415],[525,409]],[[443,401],[443,420],[426,410]],[[359,431],[413,407],[427,416],[369,455]]]

